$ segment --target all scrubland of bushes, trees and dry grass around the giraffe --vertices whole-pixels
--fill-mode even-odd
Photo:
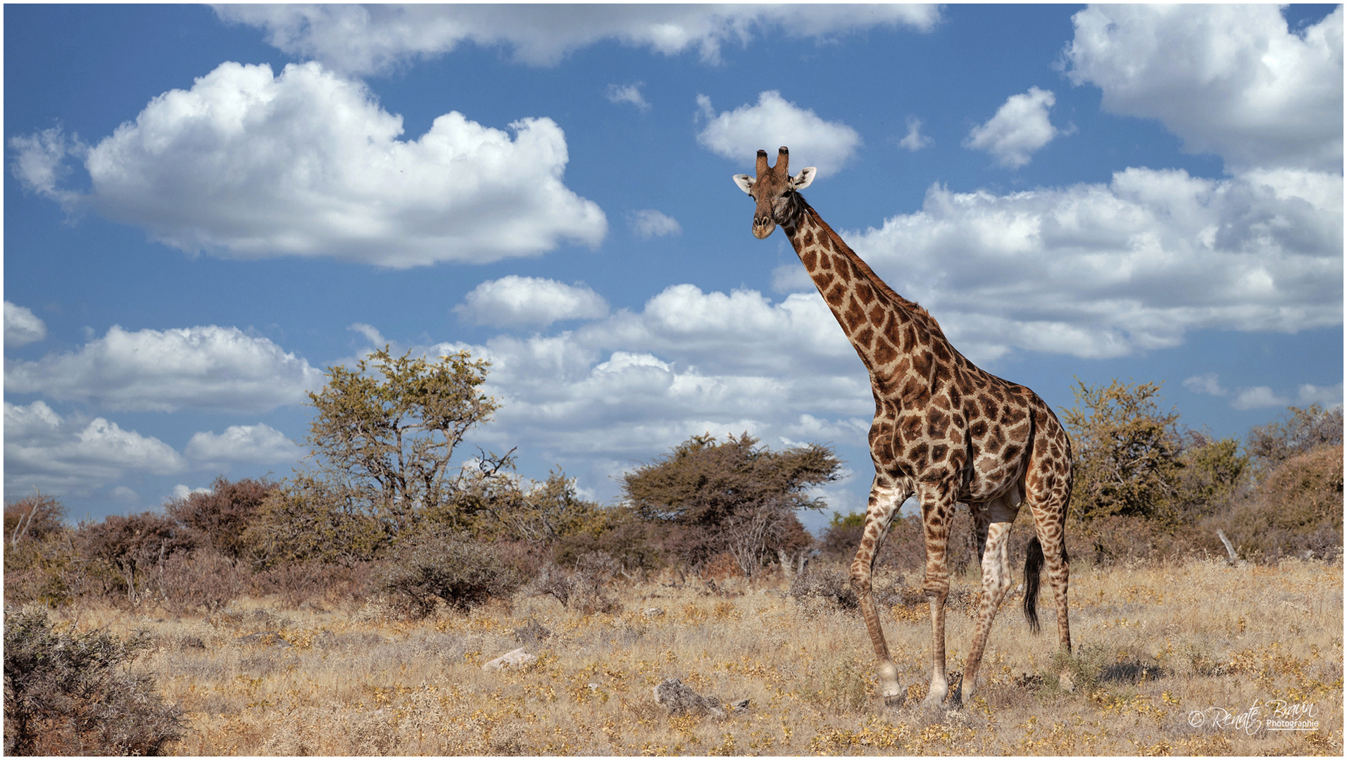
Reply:
[[[509,453],[450,467],[496,409],[485,375],[466,354],[330,370],[313,465],[286,480],[78,526],[53,498],[7,502],[7,753],[1343,751],[1340,408],[1215,439],[1157,385],[1082,385],[1063,412],[1076,650],[1030,635],[1014,592],[974,704],[921,712],[924,550],[900,519],[876,591],[909,698],[885,710],[846,576],[861,515],[820,538],[796,517],[838,476],[831,449],[696,436],[601,506]],[[966,512],[950,557],[958,671]],[[484,670],[520,647],[536,659]],[[669,678],[726,709],[671,713]],[[1313,730],[1276,730],[1290,713]]]

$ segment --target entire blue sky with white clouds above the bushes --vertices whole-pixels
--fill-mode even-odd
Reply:
[[[7,498],[287,476],[373,347],[493,362],[477,445],[610,502],[690,434],[873,402],[733,174],[811,204],[1056,408],[1227,436],[1342,402],[1342,8],[5,7]],[[807,521],[819,525],[819,518]]]

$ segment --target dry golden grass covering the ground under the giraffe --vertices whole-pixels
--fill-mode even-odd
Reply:
[[[881,576],[878,588],[893,582]],[[857,612],[797,603],[784,584],[726,585],[729,595],[618,586],[618,609],[589,615],[540,596],[407,623],[379,600],[290,611],[263,599],[209,619],[85,608],[78,625],[156,636],[137,667],[186,710],[186,734],[168,748],[179,755],[1343,752],[1340,560],[1079,570],[1070,656],[1053,652],[1051,603],[1040,605],[1048,634],[1033,636],[1012,597],[986,683],[958,713],[912,706],[929,678],[923,604],[886,615],[912,698],[885,712]],[[956,578],[955,592],[967,599],[973,585]],[[644,612],[656,607],[664,613]],[[962,608],[971,605],[948,615],[954,671],[973,627]],[[550,635],[539,639],[531,619]],[[520,646],[515,631],[525,627],[539,659],[484,671]],[[240,643],[267,631],[279,636]],[[652,695],[665,678],[722,702],[750,699],[749,709],[723,721],[669,717]],[[1274,699],[1312,704],[1319,730],[1189,725],[1193,710],[1238,717]]]

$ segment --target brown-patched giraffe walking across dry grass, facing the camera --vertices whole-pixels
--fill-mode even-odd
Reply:
[[[897,669],[872,596],[872,573],[884,535],[898,507],[916,495],[925,542],[923,591],[931,605],[932,675],[923,701],[968,704],[997,608],[1010,591],[1010,525],[1028,502],[1034,537],[1025,560],[1024,611],[1039,630],[1040,570],[1047,564],[1057,608],[1057,638],[1071,650],[1067,620],[1067,504],[1071,498],[1071,440],[1052,409],[1022,385],[982,371],[946,339],[924,308],[890,289],[819,217],[799,191],[815,168],[788,174],[789,151],[757,152],[757,176],[734,183],[756,202],[753,235],[780,226],[808,270],[832,316],[870,373],[874,422],[870,459],[874,482],[851,585],[878,658],[886,706],[898,706]],[[977,630],[962,687],[950,694],[944,654],[944,600],[950,592],[946,545],[955,504],[968,504],[982,562]]]

